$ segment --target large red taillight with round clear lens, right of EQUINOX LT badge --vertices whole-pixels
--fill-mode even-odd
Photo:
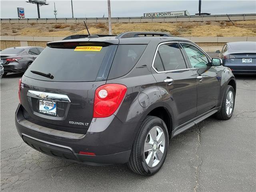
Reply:
[[[105,84],[98,87],[94,96],[93,117],[109,117],[120,106],[127,87],[121,84]]]

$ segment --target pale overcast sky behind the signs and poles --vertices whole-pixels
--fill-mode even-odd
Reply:
[[[53,18],[54,2],[58,18],[69,18],[71,14],[70,0],[47,0],[49,5],[40,7],[41,18]],[[1,18],[17,18],[17,7],[25,8],[26,18],[37,18],[35,4],[24,0],[0,0]],[[107,0],[89,1],[73,0],[74,17],[102,17],[108,15]],[[198,13],[198,0],[111,0],[112,17],[142,16],[146,12],[165,12],[188,10],[191,15]],[[243,14],[256,13],[256,1],[245,0],[202,0],[202,12],[211,14]]]

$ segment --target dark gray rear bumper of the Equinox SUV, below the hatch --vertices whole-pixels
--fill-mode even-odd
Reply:
[[[107,127],[102,128],[104,126],[102,122],[98,121],[100,124],[97,124],[97,119],[94,119],[92,123],[94,127],[89,128],[84,136],[74,139],[29,128],[20,123],[22,120],[24,116],[19,105],[16,110],[16,128],[24,142],[32,148],[50,156],[90,165],[128,162],[137,126],[140,124],[139,122],[122,124],[114,116],[109,124],[105,123]],[[95,156],[79,154],[80,151],[92,152]]]

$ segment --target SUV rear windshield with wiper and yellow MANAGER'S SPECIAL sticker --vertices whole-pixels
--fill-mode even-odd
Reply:
[[[46,47],[25,72],[25,76],[60,82],[106,80],[108,64],[113,59],[111,57],[116,47],[116,45]],[[50,73],[54,78],[46,78],[31,71]]]

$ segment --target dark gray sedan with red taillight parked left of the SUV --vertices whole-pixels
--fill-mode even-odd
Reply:
[[[44,50],[42,47],[12,47],[0,52],[1,64],[5,76],[8,72],[25,72],[36,57]]]

